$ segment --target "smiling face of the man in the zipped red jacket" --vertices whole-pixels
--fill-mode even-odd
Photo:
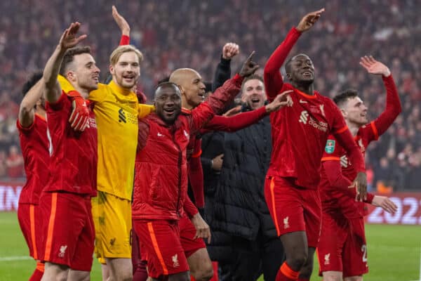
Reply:
[[[175,86],[161,86],[155,92],[156,114],[166,124],[173,124],[181,112],[181,94]]]

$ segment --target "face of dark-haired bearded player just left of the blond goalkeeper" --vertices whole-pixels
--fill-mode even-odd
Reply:
[[[95,65],[95,60],[92,55],[88,53],[75,55],[73,64],[73,74],[79,87],[81,89],[86,89],[86,91],[98,89],[100,69]]]

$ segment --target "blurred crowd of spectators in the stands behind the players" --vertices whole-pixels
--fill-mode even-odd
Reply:
[[[152,101],[156,82],[178,67],[192,67],[211,81],[222,46],[239,44],[263,67],[293,25],[309,11],[326,13],[303,35],[292,53],[307,53],[316,66],[316,89],[334,96],[355,88],[368,105],[370,119],[385,108],[382,79],[359,66],[373,55],[392,70],[403,113],[392,128],[368,148],[373,188],[421,190],[421,18],[417,0],[21,0],[0,1],[0,177],[24,176],[15,120],[20,87],[45,65],[70,22],[82,23],[102,78],[120,32],[112,4],[131,25],[131,43],[145,55],[141,89]]]

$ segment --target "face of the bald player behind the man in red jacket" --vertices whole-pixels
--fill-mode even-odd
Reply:
[[[205,100],[206,86],[203,84],[200,74],[196,71],[190,70],[180,86],[182,87],[183,101],[190,107],[194,108]]]

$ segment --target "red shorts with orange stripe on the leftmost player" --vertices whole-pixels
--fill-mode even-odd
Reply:
[[[34,259],[40,259],[44,247],[42,246],[42,223],[45,221],[41,216],[38,205],[19,204],[18,221],[20,229],[29,247],[29,255]]]

